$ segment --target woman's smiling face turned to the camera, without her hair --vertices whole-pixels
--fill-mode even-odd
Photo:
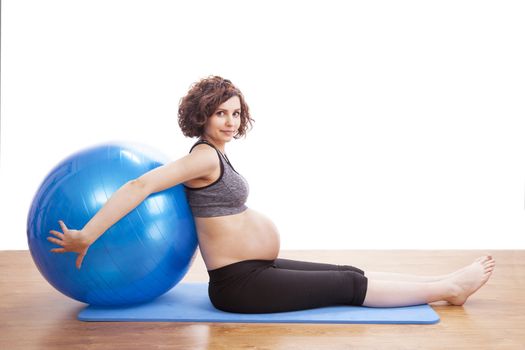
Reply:
[[[208,117],[204,125],[204,137],[211,138],[218,143],[229,142],[237,133],[241,125],[241,100],[233,96],[221,104],[217,110]]]

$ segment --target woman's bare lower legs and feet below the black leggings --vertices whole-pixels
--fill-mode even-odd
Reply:
[[[364,306],[395,307],[448,301],[463,305],[467,298],[483,286],[495,266],[492,257],[476,260],[442,281],[403,282],[369,278]]]

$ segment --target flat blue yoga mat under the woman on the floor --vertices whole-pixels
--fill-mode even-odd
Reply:
[[[207,283],[179,283],[152,302],[127,307],[88,306],[81,321],[230,322],[230,323],[406,323],[432,324],[439,316],[427,304],[369,308],[331,306],[269,314],[236,314],[217,310],[208,297]]]

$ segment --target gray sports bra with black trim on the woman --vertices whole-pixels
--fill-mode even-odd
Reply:
[[[204,187],[188,187],[184,185],[188,203],[195,217],[214,217],[233,215],[245,211],[248,198],[248,182],[231,165],[228,157],[223,155],[214,145],[206,140],[199,140],[190,149],[190,153],[199,144],[207,144],[217,151],[221,166],[221,174],[213,183]],[[227,165],[225,165],[226,163]]]

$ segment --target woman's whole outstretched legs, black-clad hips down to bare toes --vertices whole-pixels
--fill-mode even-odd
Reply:
[[[209,295],[223,311],[267,313],[330,305],[395,307],[444,300],[462,305],[495,266],[488,256],[436,282],[369,280],[355,271],[277,268],[275,261],[246,261],[209,271]]]

